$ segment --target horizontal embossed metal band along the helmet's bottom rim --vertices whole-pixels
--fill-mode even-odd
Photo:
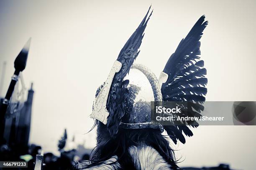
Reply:
[[[123,129],[159,129],[161,133],[164,132],[164,127],[155,122],[146,122],[146,123],[122,123],[120,124],[120,128]]]

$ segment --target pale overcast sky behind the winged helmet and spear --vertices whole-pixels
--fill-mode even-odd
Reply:
[[[23,77],[34,82],[30,143],[57,153],[67,128],[76,141],[95,146],[89,118],[97,87],[149,5],[154,8],[136,63],[157,76],[180,40],[201,15],[209,25],[201,39],[208,78],[207,101],[256,101],[254,0],[0,0],[0,64],[7,62],[3,92],[13,62],[32,37]],[[1,71],[2,69],[0,69]],[[4,94],[0,94],[4,95]],[[231,114],[231,113],[230,113]],[[185,145],[174,146],[180,166],[229,163],[254,170],[255,126],[201,126]]]

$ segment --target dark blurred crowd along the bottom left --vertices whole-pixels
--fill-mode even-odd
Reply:
[[[68,170],[72,169],[75,162],[89,160],[90,155],[87,153],[81,154],[77,151],[74,143],[67,141],[67,133],[65,130],[64,136],[59,140],[58,144],[59,156],[53,153],[42,152],[41,146],[31,144],[28,147],[8,145],[2,143],[0,145],[0,160],[5,161],[26,161],[28,162],[28,170],[34,170],[36,155],[44,155],[43,170]],[[4,169],[4,168],[3,168]],[[10,168],[7,168],[8,170]],[[19,168],[15,168],[18,170]],[[24,168],[20,168],[23,170]]]

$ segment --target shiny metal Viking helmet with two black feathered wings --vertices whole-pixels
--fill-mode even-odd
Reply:
[[[154,101],[191,101],[195,112],[200,115],[203,110],[202,102],[205,101],[207,89],[206,69],[203,68],[203,60],[200,57],[200,38],[202,31],[207,26],[203,15],[190,30],[189,34],[182,39],[176,51],[171,55],[161,72],[159,79],[146,66],[133,63],[139,54],[144,30],[152,12],[150,8],[120,51],[117,60],[108,75],[107,80],[97,89],[93,104],[91,118],[104,125],[110,136],[115,137],[119,128],[159,129],[166,130],[170,138],[177,143],[180,140],[185,143],[182,133],[192,136],[193,133],[185,125],[162,126],[151,121],[151,99]],[[148,15],[149,14],[149,15]],[[142,74],[150,87],[146,89],[147,83],[136,83],[133,81],[129,71],[137,70],[137,75]],[[140,73],[139,73],[140,72]],[[138,77],[138,76],[134,77]],[[160,81],[160,83],[159,83]],[[150,89],[151,88],[151,89]],[[148,94],[151,93],[151,97]],[[147,96],[141,96],[147,94]],[[192,110],[192,109],[191,109]],[[189,122],[187,122],[188,125]],[[191,125],[196,127],[195,125]]]

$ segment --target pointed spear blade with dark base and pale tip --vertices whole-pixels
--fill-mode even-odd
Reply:
[[[14,61],[14,68],[17,71],[23,71],[26,67],[30,42],[31,38],[28,39],[23,49],[20,51],[19,55],[16,57]]]

